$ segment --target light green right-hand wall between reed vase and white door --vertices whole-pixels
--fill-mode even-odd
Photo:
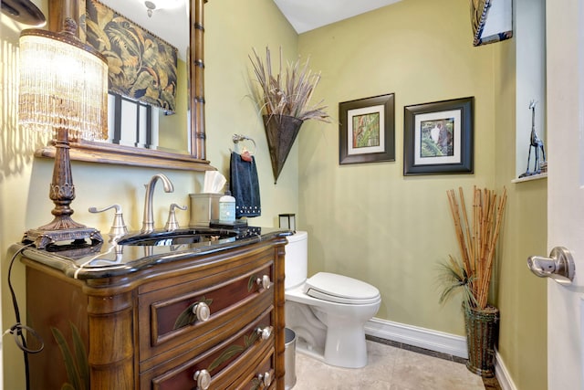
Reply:
[[[496,45],[495,177],[508,191],[495,279],[501,311],[498,351],[517,389],[547,389],[547,280],[527,269],[527,257],[547,253],[547,179],[511,184],[516,177],[516,39]],[[545,98],[544,98],[545,99]],[[545,105],[545,101],[542,101]],[[517,109],[518,110],[518,109]],[[525,105],[523,107],[525,111]],[[527,146],[527,141],[518,144]],[[525,171],[525,161],[522,168]],[[526,357],[529,357],[528,359]]]

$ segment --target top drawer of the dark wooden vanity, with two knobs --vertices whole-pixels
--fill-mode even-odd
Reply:
[[[273,278],[272,261],[249,262],[141,294],[141,372],[187,351],[203,351],[253,321],[274,302]]]

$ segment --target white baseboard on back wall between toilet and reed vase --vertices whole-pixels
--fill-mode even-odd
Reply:
[[[418,326],[372,318],[365,324],[365,333],[398,343],[406,343],[440,353],[468,358],[466,338],[437,332]]]

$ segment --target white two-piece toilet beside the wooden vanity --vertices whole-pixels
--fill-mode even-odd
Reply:
[[[346,276],[308,276],[308,233],[286,245],[286,326],[297,334],[297,351],[339,367],[367,365],[365,323],[380,309],[380,291]]]

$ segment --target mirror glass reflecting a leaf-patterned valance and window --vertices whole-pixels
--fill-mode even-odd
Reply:
[[[86,0],[86,5],[87,42],[116,72],[110,72],[110,90],[116,94],[110,93],[108,142],[189,153],[186,0],[147,5]]]

